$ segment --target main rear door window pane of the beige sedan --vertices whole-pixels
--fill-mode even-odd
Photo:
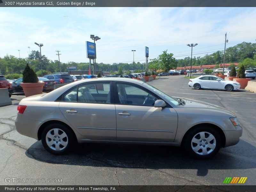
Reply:
[[[90,83],[78,87],[78,102],[110,104],[110,83]]]

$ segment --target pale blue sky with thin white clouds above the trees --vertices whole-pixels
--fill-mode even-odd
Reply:
[[[256,43],[256,8],[242,7],[52,7],[0,8],[0,57],[19,58],[34,44],[43,43],[42,54],[50,60],[89,62],[85,42],[96,42],[97,63],[145,62],[163,51],[176,59],[191,56],[187,44],[198,44],[193,56],[203,57],[242,42]]]

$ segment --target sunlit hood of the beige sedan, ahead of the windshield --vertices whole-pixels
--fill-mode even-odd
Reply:
[[[213,105],[211,103],[193,100],[193,99],[187,99],[187,98],[182,98],[182,100],[184,100],[186,102],[186,104],[183,106],[183,108],[191,108],[191,109],[194,108],[195,110],[196,109],[208,109],[208,110],[214,110],[215,112],[220,111],[220,112],[224,112],[224,113],[228,113],[228,114],[232,114],[233,116],[236,116],[231,111],[229,111],[223,107],[220,107],[218,105]]]

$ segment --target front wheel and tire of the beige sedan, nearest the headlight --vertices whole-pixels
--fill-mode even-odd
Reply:
[[[210,126],[196,127],[186,135],[184,147],[192,157],[198,159],[210,158],[220,150],[220,134]]]

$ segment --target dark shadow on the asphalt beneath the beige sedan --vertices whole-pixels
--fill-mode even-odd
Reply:
[[[251,151],[250,154],[245,153]],[[197,169],[197,176],[205,176],[212,169],[256,168],[256,148],[244,140],[220,152],[211,159],[189,157],[180,147],[129,144],[77,144],[67,155],[56,156],[47,152],[37,141],[27,149],[26,155],[51,164],[70,164],[94,167],[120,167],[140,169]]]

